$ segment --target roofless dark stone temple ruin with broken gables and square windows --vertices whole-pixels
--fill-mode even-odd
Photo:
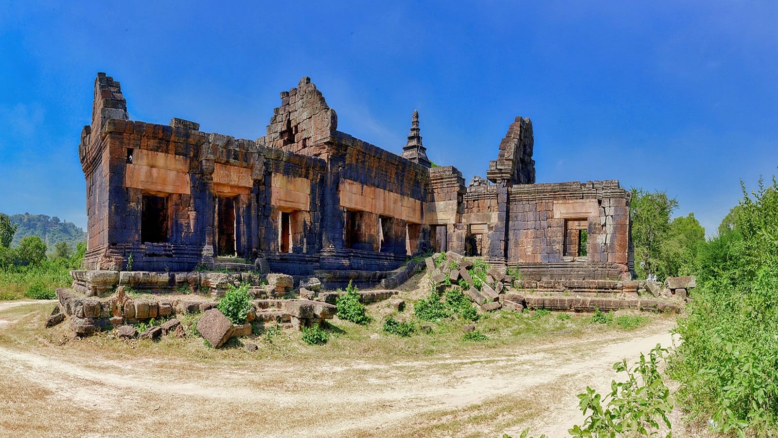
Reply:
[[[482,257],[492,281],[510,278],[506,290],[637,296],[645,284],[630,280],[629,191],[615,180],[537,184],[533,147],[531,120],[517,117],[486,178],[465,185],[457,168],[429,161],[416,111],[400,156],[338,131],[307,77],[281,93],[265,135],[245,140],[180,118],[131,121],[120,84],[98,73],[79,143],[87,251],[83,270],[72,271],[74,290],[58,291],[61,307],[112,321],[205,311],[212,302],[138,308],[118,292],[84,300],[121,286],[220,296],[242,282],[265,299],[254,303],[258,316],[264,309],[286,312],[296,326],[321,323],[331,308],[272,298],[311,281],[324,290],[349,281],[392,289],[425,267],[409,256],[430,252]],[[560,306],[568,305],[547,307]]]

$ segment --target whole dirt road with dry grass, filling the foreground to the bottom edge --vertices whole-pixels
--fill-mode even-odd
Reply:
[[[669,347],[671,327],[389,365],[179,363],[0,344],[0,435],[566,436],[582,420],[576,394],[608,390],[614,362]],[[499,415],[474,415],[489,411]]]

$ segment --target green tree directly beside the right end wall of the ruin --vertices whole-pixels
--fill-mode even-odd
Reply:
[[[664,191],[644,192],[633,188],[632,193],[629,217],[635,245],[635,270],[640,278],[646,278],[648,274],[661,277],[668,272],[663,266],[662,242],[668,238],[670,216],[678,208],[678,201],[668,198]]]

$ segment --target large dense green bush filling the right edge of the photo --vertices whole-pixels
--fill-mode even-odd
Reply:
[[[735,223],[700,249],[668,370],[693,418],[769,436],[778,430],[778,184],[743,193]]]

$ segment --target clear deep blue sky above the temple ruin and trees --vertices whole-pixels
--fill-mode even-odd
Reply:
[[[741,178],[778,173],[772,0],[0,0],[0,212],[86,226],[96,72],[121,82],[133,120],[248,139],[310,76],[338,129],[396,153],[418,109],[429,158],[468,183],[529,117],[538,182],[667,190],[709,233]]]

